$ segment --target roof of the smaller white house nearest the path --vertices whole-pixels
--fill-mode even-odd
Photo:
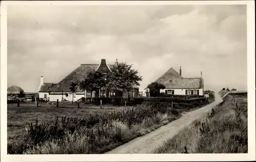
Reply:
[[[166,88],[199,88],[203,87],[203,78],[201,77],[182,77],[173,68],[170,68],[156,82],[163,84]]]

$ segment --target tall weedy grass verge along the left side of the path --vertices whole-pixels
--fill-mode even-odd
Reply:
[[[31,123],[23,135],[8,141],[9,154],[92,154],[110,151],[181,116],[175,109],[191,110],[209,101],[147,103],[84,118],[60,118]]]

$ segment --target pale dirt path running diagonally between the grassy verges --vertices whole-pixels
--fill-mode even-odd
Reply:
[[[217,92],[215,92],[216,101],[206,105],[198,110],[188,112],[182,115],[181,118],[164,125],[151,133],[145,134],[145,136],[136,138],[129,143],[121,145],[109,152],[107,154],[115,153],[151,153],[155,148],[159,147],[164,141],[173,138],[180,129],[184,126],[189,125],[197,118],[204,115],[213,106],[217,105],[222,101],[221,97]]]

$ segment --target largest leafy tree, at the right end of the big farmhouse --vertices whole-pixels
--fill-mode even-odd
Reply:
[[[117,95],[121,95],[125,91],[129,92],[128,100],[130,100],[131,90],[135,85],[139,86],[139,81],[142,80],[142,76],[139,76],[138,73],[138,70],[135,70],[133,65],[126,63],[117,63],[111,67],[111,72],[106,75],[106,86],[115,91],[115,103]]]

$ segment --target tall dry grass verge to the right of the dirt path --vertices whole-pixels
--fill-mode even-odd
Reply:
[[[247,94],[229,94],[154,153],[247,153],[247,142]]]

